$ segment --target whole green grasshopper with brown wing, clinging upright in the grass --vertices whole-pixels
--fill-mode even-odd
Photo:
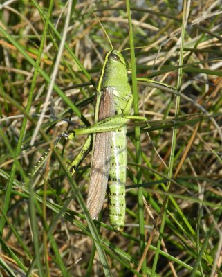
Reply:
[[[133,102],[128,81],[127,64],[117,50],[107,53],[98,81],[95,97],[95,125],[65,133],[66,139],[77,134],[93,133],[93,157],[87,208],[93,219],[104,204],[108,184],[109,220],[122,231],[125,216],[125,183],[127,172],[127,116]],[[71,163],[74,174],[84,155],[89,152],[91,136],[76,159]]]

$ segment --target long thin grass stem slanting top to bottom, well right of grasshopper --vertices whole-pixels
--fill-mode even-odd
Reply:
[[[185,38],[185,29],[186,29],[186,24],[187,24],[187,17],[188,17],[188,12],[189,12],[189,0],[184,0],[183,1],[183,24],[182,24],[182,32],[181,32],[181,47],[180,47],[180,59],[179,59],[179,69],[178,69],[178,80],[177,80],[177,88],[181,89],[181,82],[182,82],[182,65],[183,65],[183,48],[184,48],[184,38]],[[180,96],[176,96],[176,107],[175,107],[175,117],[178,116],[179,109],[180,109]],[[173,129],[173,134],[172,134],[172,145],[171,145],[171,153],[170,153],[170,158],[169,158],[169,170],[168,170],[168,177],[172,179],[172,173],[173,173],[173,168],[174,168],[174,153],[175,153],[175,148],[176,148],[176,134],[177,134],[177,128],[175,127]],[[169,190],[171,186],[171,181],[167,183],[167,191]],[[168,205],[168,199],[169,197],[165,197],[165,207],[163,207],[163,218],[160,224],[160,235],[158,238],[158,243],[156,247],[156,254],[154,257],[154,263],[151,271],[151,277],[154,276],[154,273],[156,271],[156,266],[158,262],[158,256],[160,253],[160,247],[161,247],[161,240],[162,240],[162,234],[164,232],[165,228],[165,219],[166,219],[166,213],[167,213],[167,205]]]

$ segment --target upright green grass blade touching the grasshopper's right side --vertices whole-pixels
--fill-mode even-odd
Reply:
[[[131,22],[131,11],[129,0],[127,3],[127,17],[129,21],[129,43],[130,43],[130,53],[131,53],[131,67],[132,67],[132,87],[133,87],[133,109],[134,115],[139,115],[139,105],[138,105],[138,90],[136,82],[136,59],[134,53],[133,45],[133,26]],[[136,163],[141,164],[141,145],[140,145],[140,127],[135,128],[135,140],[136,140]],[[137,169],[137,182],[141,183],[141,171]],[[142,255],[145,249],[145,226],[144,226],[144,209],[143,209],[143,188],[138,188],[138,217],[140,224],[140,253]],[[145,273],[146,260],[142,263],[142,273]]]

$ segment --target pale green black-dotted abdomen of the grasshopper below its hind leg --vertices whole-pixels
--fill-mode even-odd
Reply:
[[[127,174],[127,127],[113,132],[108,181],[109,220],[122,231],[125,217],[125,184]]]

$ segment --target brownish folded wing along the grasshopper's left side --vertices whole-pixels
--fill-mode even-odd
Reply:
[[[112,87],[106,87],[98,92],[96,106],[98,107],[98,114],[95,114],[95,122],[97,118],[100,121],[115,115]],[[87,208],[93,219],[97,218],[102,210],[106,195],[112,135],[113,132],[93,134],[93,157],[87,199]]]

